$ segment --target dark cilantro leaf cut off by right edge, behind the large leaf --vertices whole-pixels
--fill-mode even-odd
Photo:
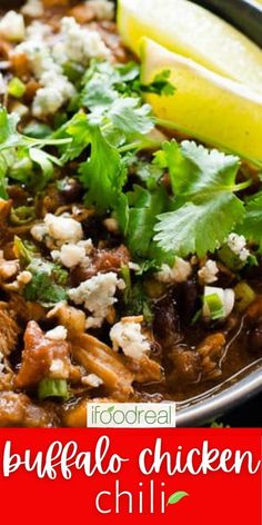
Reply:
[[[238,231],[249,241],[259,245],[262,251],[262,191],[248,201],[245,210],[246,216]]]

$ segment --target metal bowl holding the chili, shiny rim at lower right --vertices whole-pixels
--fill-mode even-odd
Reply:
[[[220,14],[262,47],[262,6],[260,8],[253,0],[194,1]],[[23,1],[19,0],[1,0],[0,7],[16,9],[22,3]],[[204,394],[178,403],[178,425],[195,426],[208,423],[248,402],[260,392],[262,392],[262,358]]]

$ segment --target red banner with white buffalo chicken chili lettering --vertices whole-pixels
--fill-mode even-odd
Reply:
[[[261,436],[2,429],[1,522],[260,525]]]

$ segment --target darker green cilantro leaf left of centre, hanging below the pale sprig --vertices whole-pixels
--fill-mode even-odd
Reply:
[[[93,204],[102,211],[117,205],[127,180],[127,168],[98,126],[90,125],[90,139],[91,157],[80,165],[80,180],[88,189],[85,204]]]

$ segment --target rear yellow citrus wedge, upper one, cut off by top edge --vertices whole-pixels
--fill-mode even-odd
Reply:
[[[188,0],[119,0],[118,26],[137,55],[140,38],[148,37],[262,92],[262,50],[200,6]]]

